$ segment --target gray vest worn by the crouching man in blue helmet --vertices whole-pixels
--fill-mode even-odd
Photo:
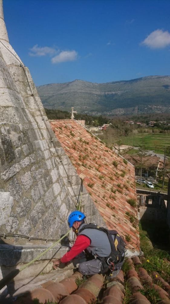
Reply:
[[[80,229],[83,228],[85,224],[80,226]],[[79,229],[79,230],[80,230]],[[107,257],[111,253],[111,246],[109,239],[105,232],[97,229],[84,229],[78,235],[85,235],[91,240],[91,244],[87,247],[87,250],[92,254],[98,257]]]

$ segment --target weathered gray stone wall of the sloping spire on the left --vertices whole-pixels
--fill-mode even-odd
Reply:
[[[28,68],[8,42],[2,0],[0,22],[0,234],[56,239],[68,230],[67,217],[75,209],[80,178],[51,130]],[[91,199],[85,188],[82,200],[88,220]],[[93,202],[92,220],[103,224]],[[27,244],[28,240],[15,237],[6,242]]]

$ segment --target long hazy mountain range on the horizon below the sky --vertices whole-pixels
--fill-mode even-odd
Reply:
[[[74,80],[37,87],[47,109],[74,107],[87,114],[170,112],[170,76],[147,76],[127,81],[92,83]]]

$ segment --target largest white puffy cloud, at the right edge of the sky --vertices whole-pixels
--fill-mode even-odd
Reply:
[[[163,32],[162,29],[156,29],[141,44],[151,49],[162,49],[170,44],[170,33],[168,31]]]

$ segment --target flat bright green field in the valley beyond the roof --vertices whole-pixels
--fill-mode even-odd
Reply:
[[[139,147],[143,145],[145,150],[153,150],[155,153],[163,154],[163,148],[170,146],[170,134],[163,133],[137,133],[121,137],[121,144]]]

